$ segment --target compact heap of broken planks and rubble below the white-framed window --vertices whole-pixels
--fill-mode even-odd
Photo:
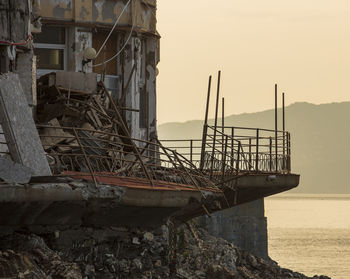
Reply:
[[[125,171],[125,161],[135,158],[133,144],[121,129],[119,111],[111,109],[113,99],[104,84],[92,82],[87,88],[72,89],[60,85],[59,79],[58,73],[39,79],[36,111],[40,138],[54,172]]]

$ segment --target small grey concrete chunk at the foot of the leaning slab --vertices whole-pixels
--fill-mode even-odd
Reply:
[[[9,184],[24,184],[28,183],[31,177],[30,168],[0,157],[0,179]]]

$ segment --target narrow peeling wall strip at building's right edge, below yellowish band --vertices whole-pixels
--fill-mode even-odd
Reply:
[[[132,37],[118,58],[117,72],[125,87],[125,99],[120,101],[127,108],[139,110],[125,111],[131,136],[136,139],[150,140],[156,135],[158,42],[159,39],[153,37]]]

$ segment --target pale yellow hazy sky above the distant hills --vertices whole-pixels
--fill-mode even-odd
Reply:
[[[349,0],[158,0],[158,124],[203,119],[222,70],[226,115],[350,100]],[[212,87],[211,115],[214,114]]]

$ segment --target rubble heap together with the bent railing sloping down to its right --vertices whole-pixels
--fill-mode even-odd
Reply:
[[[75,75],[81,84],[66,79]],[[83,73],[57,72],[38,80],[38,132],[54,174],[67,171],[146,178],[151,182],[212,186],[182,155],[130,136],[123,96],[116,100],[103,82]],[[87,91],[88,90],[88,91]]]

